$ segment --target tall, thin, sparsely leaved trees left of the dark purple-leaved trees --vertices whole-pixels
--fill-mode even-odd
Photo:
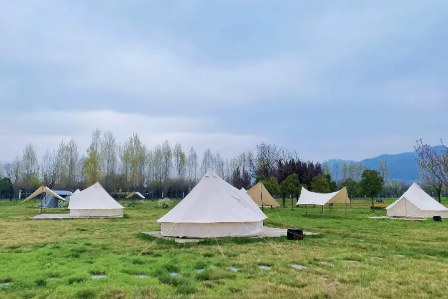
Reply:
[[[99,181],[109,192],[138,190],[154,197],[181,197],[208,170],[214,169],[226,181],[249,187],[259,175],[278,177],[296,172],[310,184],[322,173],[320,163],[300,161],[294,151],[260,143],[253,150],[224,158],[220,152],[206,149],[202,159],[196,149],[185,150],[180,143],[168,141],[148,148],[137,134],[118,143],[111,131],[95,129],[89,148],[79,150],[74,139],[47,149],[38,159],[33,144],[28,144],[13,161],[0,162],[0,178],[9,183],[3,191],[29,193],[44,184],[52,189],[83,189]],[[285,171],[289,166],[293,169]],[[288,172],[289,171],[289,172]],[[291,173],[292,173],[291,172]],[[2,184],[4,185],[4,184]]]

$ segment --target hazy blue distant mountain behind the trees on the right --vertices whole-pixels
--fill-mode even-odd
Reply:
[[[438,152],[445,151],[447,148],[444,146],[433,147]],[[352,160],[345,160],[347,163],[363,163],[367,168],[378,169],[378,164],[381,160],[385,160],[387,163],[387,168],[389,170],[389,177],[391,180],[402,180],[405,182],[414,182],[417,179],[417,162],[416,158],[418,155],[415,151],[412,152],[402,152],[397,154],[382,154],[374,158],[364,159],[362,161],[356,162]],[[333,164],[337,162],[339,169],[342,167],[344,160],[341,159],[331,159],[328,161],[330,169]]]

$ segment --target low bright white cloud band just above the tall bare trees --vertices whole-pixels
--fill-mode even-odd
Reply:
[[[148,148],[168,140],[172,146],[180,142],[186,152],[194,147],[201,155],[206,148],[220,151],[230,157],[251,149],[263,137],[237,135],[217,131],[220,124],[213,118],[167,117],[152,118],[138,114],[122,114],[112,111],[39,111],[6,115],[0,127],[2,146],[0,160],[12,160],[25,145],[33,143],[39,157],[46,149],[56,149],[61,141],[74,138],[80,153],[89,147],[93,129],[111,130],[117,142],[126,141],[137,133]]]

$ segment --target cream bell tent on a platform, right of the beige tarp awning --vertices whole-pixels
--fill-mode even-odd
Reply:
[[[68,208],[73,217],[122,217],[124,209],[99,182],[73,193]]]

